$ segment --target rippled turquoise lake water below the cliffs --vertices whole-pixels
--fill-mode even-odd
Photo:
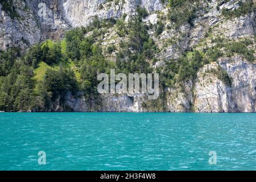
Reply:
[[[255,170],[256,113],[0,113],[0,169]]]

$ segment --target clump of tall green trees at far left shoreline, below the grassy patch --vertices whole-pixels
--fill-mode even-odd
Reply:
[[[0,109],[5,111],[27,111],[34,105],[32,94],[33,71],[22,60],[15,60],[9,75],[1,79]]]

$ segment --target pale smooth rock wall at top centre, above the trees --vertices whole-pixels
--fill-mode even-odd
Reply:
[[[138,5],[146,7],[150,12],[163,9],[162,3],[159,0],[110,2],[105,0],[66,0],[63,1],[63,14],[73,27],[79,27],[88,24],[94,16],[98,16],[100,19],[120,18],[123,14],[132,16],[135,14]]]

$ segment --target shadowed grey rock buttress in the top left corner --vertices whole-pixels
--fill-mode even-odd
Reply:
[[[0,49],[19,46],[25,48],[42,38],[34,12],[26,9],[26,3],[15,1],[16,16],[11,17],[0,4]],[[26,9],[26,11],[24,11]]]

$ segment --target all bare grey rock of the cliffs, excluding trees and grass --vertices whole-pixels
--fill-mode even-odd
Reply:
[[[145,23],[156,24],[161,16],[167,15],[167,7],[160,0],[52,0],[38,1],[14,0],[19,18],[12,19],[0,4],[0,48],[10,46],[26,48],[36,42],[60,38],[64,30],[86,26],[94,16],[100,19],[120,18],[127,14],[126,20],[135,14],[137,6],[145,7],[150,15],[143,19]],[[222,14],[223,9],[237,9],[238,1],[212,0],[207,11],[199,11],[193,19],[193,26],[185,23],[177,28],[166,20],[164,31],[158,38],[152,35],[160,51],[156,55],[159,61],[154,67],[160,67],[164,60],[177,59],[190,49],[204,49],[214,46],[210,39],[221,35],[225,40],[253,40],[255,49],[255,11],[233,19]],[[40,4],[42,3],[42,4]],[[205,2],[202,1],[202,5]],[[44,9],[45,5],[45,9]],[[42,15],[42,10],[46,10]],[[209,36],[209,30],[211,35]],[[119,39],[111,43],[118,44]],[[102,45],[108,44],[103,41]],[[255,51],[254,51],[255,55]],[[232,78],[228,85],[213,70],[222,69]],[[65,105],[74,111],[196,111],[196,112],[255,112],[256,109],[256,62],[248,61],[242,55],[223,55],[214,63],[204,65],[197,73],[196,80],[186,81],[183,88],[172,86],[162,90],[154,104],[146,100],[143,94],[102,95],[97,101],[87,101],[82,93],[72,96],[68,93]],[[148,103],[149,104],[148,104]],[[144,104],[149,106],[144,106]],[[158,107],[155,107],[157,105]],[[54,110],[63,111],[56,100]]]

